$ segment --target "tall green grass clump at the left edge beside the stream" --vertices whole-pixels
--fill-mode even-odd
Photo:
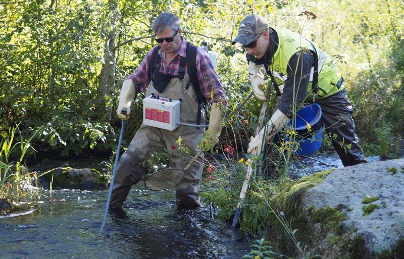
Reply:
[[[39,189],[31,186],[33,180],[37,185],[37,175],[29,172],[25,166],[25,157],[29,152],[36,151],[31,141],[42,130],[39,128],[27,139],[24,139],[18,125],[8,132],[0,132],[0,199],[19,204],[40,197]]]

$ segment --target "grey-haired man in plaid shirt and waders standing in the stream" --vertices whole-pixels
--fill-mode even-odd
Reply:
[[[180,121],[195,125],[199,120],[200,124],[205,125],[205,112],[199,109],[199,98],[192,83],[197,80],[198,92],[206,101],[212,103],[209,128],[205,131],[201,127],[180,125],[169,131],[141,125],[128,149],[122,154],[117,168],[110,203],[111,211],[119,212],[131,185],[149,172],[147,159],[153,152],[167,152],[169,166],[183,170],[189,162],[186,158],[190,155],[182,153],[179,147],[187,148],[191,156],[200,149],[205,151],[218,142],[222,129],[227,96],[207,51],[187,44],[182,37],[180,20],[174,14],[161,13],[151,27],[156,33],[158,45],[148,52],[140,66],[123,82],[117,109],[118,117],[127,120],[136,93],[145,91],[145,96],[154,93],[159,98],[180,100]],[[194,51],[196,49],[194,64],[197,78],[190,78],[195,74],[188,73],[189,64],[185,65],[189,63],[186,55],[190,47],[193,47]],[[121,113],[124,108],[127,109],[126,115]],[[180,142],[178,139],[181,139]],[[201,156],[203,157],[203,154]],[[176,190],[179,206],[199,206],[199,181],[202,170],[201,164],[196,162],[184,172],[184,178]]]

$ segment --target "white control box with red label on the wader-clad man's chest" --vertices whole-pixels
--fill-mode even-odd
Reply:
[[[143,125],[175,130],[180,125],[180,103],[151,93],[143,99]]]

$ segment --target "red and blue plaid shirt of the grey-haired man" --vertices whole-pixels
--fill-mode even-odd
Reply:
[[[140,92],[144,91],[148,84],[150,83],[149,69],[150,65],[154,66],[154,64],[150,64],[151,54],[153,50],[157,46],[153,47],[147,55],[143,58],[143,61],[140,63],[140,66],[130,74],[126,79],[132,79],[132,82],[136,85],[138,84],[138,90]],[[182,43],[178,49],[178,53],[175,58],[167,65],[164,62],[163,50],[159,50],[159,55],[161,56],[160,63],[160,72],[164,74],[171,74],[178,76],[178,69],[180,65],[180,56],[185,57],[186,50],[186,41],[182,38]],[[199,88],[201,93],[205,96],[206,100],[209,102],[217,102],[227,104],[226,93],[223,89],[222,84],[220,83],[219,77],[216,74],[216,70],[212,65],[212,62],[209,58],[209,55],[205,49],[198,48],[196,51],[196,75],[199,81]],[[185,66],[185,75],[184,77],[189,79],[188,68]],[[213,90],[213,99],[212,99],[212,88]]]

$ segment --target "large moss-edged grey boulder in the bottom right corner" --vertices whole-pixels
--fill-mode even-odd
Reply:
[[[403,159],[302,178],[270,198],[267,238],[297,257],[404,258],[403,187]]]

